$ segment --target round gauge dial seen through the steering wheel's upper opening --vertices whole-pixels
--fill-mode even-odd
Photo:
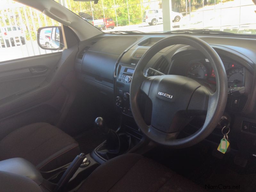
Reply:
[[[202,63],[192,63],[187,72],[187,77],[206,79],[207,69]]]

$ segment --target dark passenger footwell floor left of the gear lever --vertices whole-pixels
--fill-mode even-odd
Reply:
[[[80,151],[82,153],[91,153],[94,148],[96,148],[100,143],[106,140],[106,135],[104,135],[97,128],[92,128],[90,131],[84,132],[79,136],[75,137],[78,142]]]

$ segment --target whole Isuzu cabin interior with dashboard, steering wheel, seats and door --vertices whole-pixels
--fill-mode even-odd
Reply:
[[[62,51],[0,62],[0,191],[255,191],[255,36],[104,33],[15,1]]]

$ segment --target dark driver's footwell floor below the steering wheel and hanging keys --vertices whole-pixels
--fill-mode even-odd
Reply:
[[[218,159],[211,155],[211,149],[202,151],[202,147],[178,150],[162,147],[147,155],[211,192],[256,191],[255,157],[241,167],[234,164],[234,154],[227,153]]]

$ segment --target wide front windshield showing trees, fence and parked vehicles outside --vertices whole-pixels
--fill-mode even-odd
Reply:
[[[256,0],[56,1],[106,33],[211,29],[256,35]]]

